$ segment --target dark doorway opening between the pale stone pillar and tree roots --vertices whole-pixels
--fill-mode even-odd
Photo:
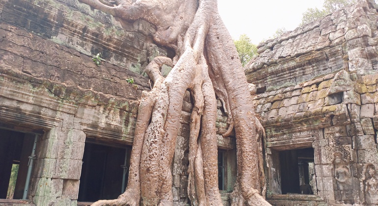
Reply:
[[[80,202],[116,199],[129,176],[131,148],[85,143],[81,169]],[[125,164],[126,157],[126,164]]]

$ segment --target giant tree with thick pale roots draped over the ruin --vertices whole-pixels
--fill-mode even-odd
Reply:
[[[154,82],[139,104],[126,191],[94,205],[173,204],[171,167],[184,93],[193,98],[189,134],[188,196],[192,205],[221,205],[217,184],[216,98],[237,139],[238,175],[233,204],[269,205],[264,187],[258,122],[235,45],[216,0],[81,0],[126,21],[156,26],[154,41],[176,52],[156,57],[146,73]],[[162,64],[172,65],[162,77]],[[226,133],[229,133],[226,132]]]

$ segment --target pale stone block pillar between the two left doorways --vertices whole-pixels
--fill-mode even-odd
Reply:
[[[29,194],[35,205],[77,205],[84,141],[83,131],[63,127],[39,139]]]

